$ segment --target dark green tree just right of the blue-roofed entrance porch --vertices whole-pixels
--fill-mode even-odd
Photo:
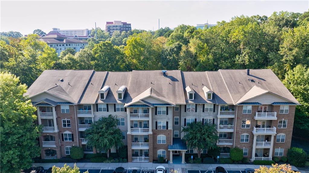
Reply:
[[[215,124],[191,123],[188,126],[184,126],[182,132],[185,133],[183,139],[187,142],[187,146],[197,150],[198,158],[201,158],[203,150],[217,147],[216,143],[219,137]]]

